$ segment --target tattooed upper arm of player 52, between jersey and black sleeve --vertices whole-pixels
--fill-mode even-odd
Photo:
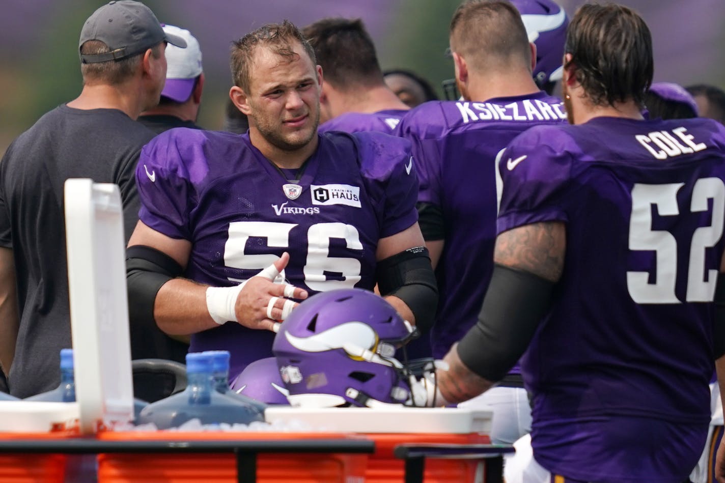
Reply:
[[[564,270],[565,252],[564,223],[534,223],[497,236],[494,261],[556,282]]]

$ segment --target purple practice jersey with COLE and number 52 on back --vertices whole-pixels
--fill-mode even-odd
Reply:
[[[566,223],[563,275],[521,359],[534,457],[587,482],[685,481],[710,422],[725,129],[539,126],[500,172],[499,233]]]

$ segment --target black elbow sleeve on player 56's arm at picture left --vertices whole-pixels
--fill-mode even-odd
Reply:
[[[144,245],[126,249],[126,286],[128,318],[138,323],[155,323],[154,302],[159,289],[172,278],[181,276],[183,268],[176,260]]]

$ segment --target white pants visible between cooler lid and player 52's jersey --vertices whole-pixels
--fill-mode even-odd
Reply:
[[[531,431],[531,407],[526,389],[492,387],[482,395],[460,402],[459,408],[492,409],[491,442],[494,445],[513,445]]]

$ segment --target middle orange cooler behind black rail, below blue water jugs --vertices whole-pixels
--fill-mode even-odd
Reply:
[[[273,432],[105,432],[107,441],[291,440],[360,438],[340,433]],[[349,453],[258,453],[260,483],[357,483],[368,455]],[[112,453],[99,455],[99,483],[236,483],[231,453]]]

